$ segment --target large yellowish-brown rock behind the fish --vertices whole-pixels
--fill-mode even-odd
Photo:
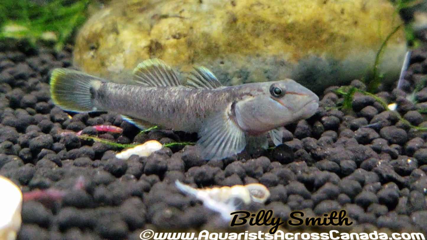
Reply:
[[[183,71],[204,65],[225,85],[288,77],[319,92],[369,77],[400,24],[387,0],[122,0],[85,23],[74,62],[120,82],[161,58]],[[398,77],[404,52],[398,30],[382,54],[384,81]]]

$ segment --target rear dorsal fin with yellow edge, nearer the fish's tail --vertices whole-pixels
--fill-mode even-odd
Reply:
[[[157,58],[138,64],[133,74],[134,81],[145,87],[177,87],[181,85],[172,68]]]

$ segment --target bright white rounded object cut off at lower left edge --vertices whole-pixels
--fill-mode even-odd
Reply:
[[[3,176],[0,176],[0,193],[0,239],[15,240],[21,226],[22,193]]]

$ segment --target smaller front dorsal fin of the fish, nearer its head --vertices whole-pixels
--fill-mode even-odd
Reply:
[[[213,73],[205,67],[194,67],[194,70],[187,75],[186,82],[183,84],[186,87],[198,89],[214,89],[222,87],[219,80]]]

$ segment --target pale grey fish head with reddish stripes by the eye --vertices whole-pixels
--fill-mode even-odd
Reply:
[[[319,97],[291,79],[247,87],[252,95],[237,101],[234,111],[240,128],[252,135],[307,119],[319,107]]]

